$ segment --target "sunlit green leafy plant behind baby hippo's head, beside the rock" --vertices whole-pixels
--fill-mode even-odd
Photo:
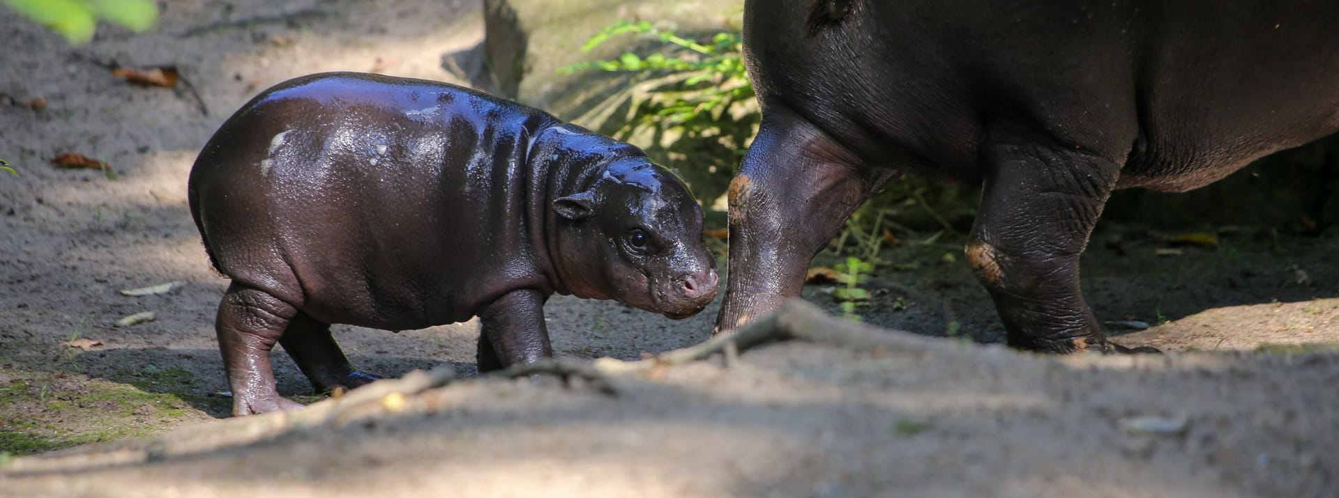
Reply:
[[[640,43],[636,51],[558,70],[627,78],[621,88],[577,120],[674,165],[694,191],[711,202],[724,193],[762,116],[739,33],[718,32],[699,40],[649,21],[620,21],[586,40],[582,51],[628,36]]]

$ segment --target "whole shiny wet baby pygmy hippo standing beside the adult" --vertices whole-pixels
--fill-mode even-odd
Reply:
[[[218,272],[233,414],[297,408],[276,341],[320,391],[375,380],[329,324],[479,316],[479,371],[552,356],[544,301],[680,319],[716,295],[702,209],[637,147],[450,84],[360,74],[281,83],[201,151],[190,212]]]

